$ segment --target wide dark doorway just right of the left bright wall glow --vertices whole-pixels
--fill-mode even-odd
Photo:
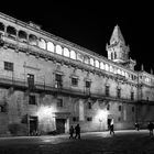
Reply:
[[[56,131],[58,134],[65,133],[65,119],[56,119]]]

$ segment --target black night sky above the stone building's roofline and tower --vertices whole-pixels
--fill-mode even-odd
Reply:
[[[84,0],[82,0],[84,1]],[[32,1],[31,1],[32,2]],[[61,36],[73,43],[107,56],[106,44],[109,43],[114,25],[119,25],[130,56],[136,59],[136,69],[144,64],[150,73],[153,66],[154,12],[151,3],[131,3],[130,1],[98,3],[97,1],[61,2],[36,1],[33,4],[2,4],[0,11],[22,20],[42,25],[44,31]]]

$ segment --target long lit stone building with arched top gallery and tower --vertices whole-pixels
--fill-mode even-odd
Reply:
[[[120,28],[108,58],[0,13],[0,134],[133,129],[154,120],[154,76],[134,70]]]

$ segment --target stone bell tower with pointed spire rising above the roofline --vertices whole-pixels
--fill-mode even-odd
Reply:
[[[108,59],[134,69],[135,61],[129,58],[130,47],[125,45],[125,41],[118,25],[114,26],[110,44],[106,46]]]

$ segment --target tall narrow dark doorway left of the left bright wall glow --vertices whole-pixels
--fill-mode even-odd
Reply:
[[[30,134],[35,135],[37,132],[37,117],[30,117]]]

